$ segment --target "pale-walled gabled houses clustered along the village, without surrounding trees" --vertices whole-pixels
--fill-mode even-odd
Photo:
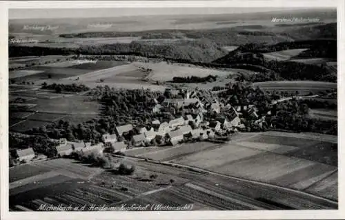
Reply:
[[[56,153],[59,157],[69,155],[72,152],[83,152],[88,154],[94,152],[102,154],[104,148],[112,148],[112,152],[119,152],[131,147],[146,146],[152,143],[152,140],[160,140],[164,143],[176,145],[186,139],[212,139],[216,132],[237,132],[238,128],[244,128],[242,123],[242,114],[245,112],[247,117],[255,120],[258,126],[262,126],[264,118],[259,119],[257,108],[253,105],[248,106],[230,106],[224,105],[214,99],[199,99],[196,92],[181,92],[181,90],[170,90],[172,94],[182,94],[183,99],[164,99],[161,103],[156,101],[153,112],[159,112],[163,108],[190,108],[193,110],[184,117],[177,117],[170,121],[160,122],[152,121],[148,126],[132,126],[131,124],[117,126],[115,134],[103,134],[102,143],[91,145],[90,142],[70,142],[66,139],[60,139],[56,146]],[[226,116],[216,118],[214,121],[204,121],[204,112],[220,113],[221,109],[226,112]],[[132,131],[132,132],[131,132]],[[130,141],[122,141],[124,134],[132,134]],[[128,136],[127,136],[128,137]],[[156,141],[155,143],[158,143]],[[32,148],[17,150],[19,161],[31,161],[37,159]],[[39,158],[40,159],[40,158]]]

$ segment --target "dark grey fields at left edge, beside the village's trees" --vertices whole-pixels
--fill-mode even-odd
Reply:
[[[57,94],[43,90],[17,90],[10,92],[10,100],[23,98],[33,106],[28,110],[10,112],[10,130],[25,132],[46,126],[60,119],[81,123],[98,117],[99,103],[84,94]]]

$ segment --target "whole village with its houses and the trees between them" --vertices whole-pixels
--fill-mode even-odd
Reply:
[[[190,90],[167,89],[166,92],[170,94],[169,97],[177,98],[159,101],[154,99],[155,106],[152,112],[172,112],[174,119],[155,119],[148,124],[117,126],[115,134],[103,134],[101,143],[94,145],[83,141],[52,140],[57,143],[56,157],[67,157],[77,152],[84,155],[119,153],[132,148],[176,146],[188,141],[226,142],[230,140],[231,135],[245,129],[242,122],[246,119],[254,120],[257,126],[265,126],[264,117],[259,119],[257,108],[253,105],[230,106],[229,103],[222,103],[215,98],[210,99],[205,95],[200,97],[197,92]],[[184,115],[181,115],[181,112],[184,112]],[[226,114],[221,114],[222,112]],[[213,117],[209,117],[210,115]],[[46,155],[36,154],[32,148],[16,151],[17,163],[14,164],[47,158]]]

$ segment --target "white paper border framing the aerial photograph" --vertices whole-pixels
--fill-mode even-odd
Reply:
[[[0,219],[343,219],[345,218],[344,103],[338,101],[338,210],[185,211],[185,212],[9,212],[8,206],[8,9],[9,8],[337,8],[338,99],[345,97],[344,0],[293,1],[1,1],[0,2]]]

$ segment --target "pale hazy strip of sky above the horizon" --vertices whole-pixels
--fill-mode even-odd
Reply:
[[[291,8],[74,8],[10,9],[9,19],[54,19],[83,17],[124,17],[171,14],[235,14],[284,11]]]

